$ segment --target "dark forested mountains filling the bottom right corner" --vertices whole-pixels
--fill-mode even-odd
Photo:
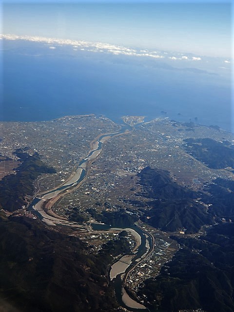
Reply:
[[[138,292],[150,310],[233,312],[234,223],[219,224],[198,239],[173,238],[182,248]]]

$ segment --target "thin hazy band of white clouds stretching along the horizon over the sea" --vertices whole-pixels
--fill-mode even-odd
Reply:
[[[208,57],[195,55],[192,53],[181,53],[177,51],[164,51],[160,49],[142,49],[138,47],[126,47],[116,44],[91,42],[86,40],[58,39],[40,36],[18,36],[13,34],[0,35],[0,41],[3,42],[35,42],[42,44],[45,49],[54,51],[55,55],[62,48],[70,49],[70,53],[76,56],[76,53],[87,53],[89,57],[102,57],[102,60],[112,57],[112,62],[118,62],[125,59],[125,62],[134,61],[139,66],[153,68],[164,68],[173,71],[186,71],[196,74],[216,75],[220,78],[230,79],[232,60],[220,57]],[[43,52],[46,53],[46,50]],[[40,56],[35,53],[34,56]],[[224,66],[225,64],[225,66]]]

